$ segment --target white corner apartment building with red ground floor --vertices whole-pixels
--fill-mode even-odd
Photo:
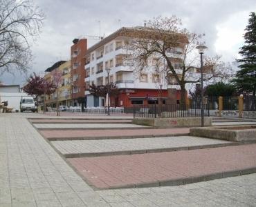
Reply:
[[[143,29],[143,28],[141,28]],[[154,72],[142,72],[140,75],[134,72],[133,63],[127,61],[127,45],[133,38],[131,35],[134,28],[120,28],[113,34],[102,39],[89,48],[86,53],[86,88],[94,83],[96,86],[105,85],[108,81],[107,68],[109,72],[109,81],[116,83],[120,90],[118,97],[111,97],[111,106],[129,107],[134,104],[154,104],[158,103],[158,97],[161,95],[161,101],[165,104],[168,97],[167,80],[165,75]],[[181,48],[172,61],[175,69],[180,70],[180,61],[184,43],[181,43]],[[149,63],[150,67],[156,67],[156,59],[152,59]],[[170,82],[170,81],[169,81]],[[175,90],[175,100],[179,100],[181,93],[179,87],[173,84]],[[170,91],[170,90],[169,90]],[[95,97],[90,94],[89,90],[85,91],[87,106],[104,106],[104,97]],[[169,95],[170,97],[170,95]]]

